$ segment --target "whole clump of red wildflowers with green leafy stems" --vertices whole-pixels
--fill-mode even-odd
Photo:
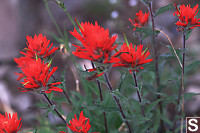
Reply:
[[[62,49],[63,44],[65,45],[65,53],[62,55],[68,52],[68,58],[73,60],[73,65],[65,65],[73,70],[76,86],[66,88],[66,84],[71,84],[65,78],[68,75],[66,69],[63,69],[60,79],[54,77],[58,67],[52,67],[52,61],[59,49],[56,47],[57,44],[54,43],[54,47],[43,34],[27,36],[27,46],[20,52],[22,56],[14,58],[19,68],[19,72],[16,73],[17,80],[22,84],[19,91],[32,92],[43,97],[46,102],[41,100],[37,106],[46,110],[45,116],[53,112],[62,123],[59,125],[52,123],[53,126],[49,126],[47,130],[36,127],[39,132],[183,133],[185,131],[183,126],[185,98],[197,94],[186,93],[184,81],[186,73],[200,64],[199,61],[187,64],[185,49],[191,30],[200,26],[199,18],[196,16],[199,10],[198,4],[194,8],[190,5],[169,4],[154,10],[153,1],[142,0],[149,11],[143,13],[144,11],[139,10],[136,18],[127,18],[127,22],[131,22],[129,26],[131,28],[127,30],[139,33],[139,41],[128,43],[129,39],[125,33],[124,40],[117,42],[117,37],[121,36],[121,33],[112,36],[109,29],[97,21],[92,23],[84,20],[80,23],[77,19],[73,19],[76,16],[70,15],[63,1],[44,0],[51,18],[53,16],[48,1],[54,1],[63,9],[74,26],[73,31],[67,30],[62,33],[56,24],[60,37],[56,35],[53,37],[57,43],[62,44]],[[174,25],[178,26],[177,30],[183,36],[182,50],[176,49],[167,34],[156,28],[155,18],[169,10],[173,10],[173,15],[178,19]],[[157,37],[160,34],[164,34],[169,40],[170,45],[163,45],[169,49],[168,53],[159,51]],[[72,48],[69,46],[68,35],[76,39],[72,40]],[[149,43],[143,41],[146,38],[149,38]],[[77,41],[78,43],[75,43]],[[74,58],[75,56],[77,58]],[[80,67],[76,62],[78,58],[89,61],[90,67],[86,65],[84,68]],[[112,70],[119,74],[115,75],[119,78],[115,82],[112,79]],[[168,118],[167,108],[171,105],[175,113],[172,118]],[[10,115],[8,117],[7,114],[5,117],[0,115],[0,121],[1,118],[12,119],[13,122],[16,114],[13,117]],[[41,125],[47,123],[48,118],[44,119],[45,122],[40,121]],[[15,122],[12,129],[17,132],[21,127],[21,119]],[[5,125],[1,123],[0,131],[7,131],[11,126],[5,126],[9,122],[3,122]]]

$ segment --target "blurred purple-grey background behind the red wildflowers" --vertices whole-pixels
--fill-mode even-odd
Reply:
[[[137,36],[134,36],[131,23],[128,18],[134,19],[139,10],[147,12],[148,8],[139,0],[64,0],[65,6],[70,15],[79,22],[90,21],[98,22],[104,28],[108,28],[111,35],[118,34],[117,42],[124,42],[123,32],[126,34],[129,42],[138,44]],[[200,4],[199,0],[153,0],[153,9],[165,6],[170,3],[191,4],[193,7]],[[48,2],[49,10],[54,16],[61,32],[66,31],[69,37],[69,44],[77,42],[69,31],[74,29],[66,13],[54,2]],[[175,10],[168,11],[156,17],[155,26],[162,29],[172,40],[175,48],[181,48],[182,37],[176,30],[175,25],[177,16],[173,16]],[[198,14],[198,17],[200,15]],[[18,112],[23,117],[23,128],[31,128],[36,118],[41,114],[41,110],[34,106],[40,96],[31,93],[22,93],[17,88],[21,84],[16,81],[14,74],[20,70],[17,68],[13,58],[20,57],[20,51],[26,47],[26,36],[34,36],[42,33],[47,39],[59,47],[59,43],[52,37],[51,33],[60,37],[52,19],[49,16],[44,1],[42,0],[0,0],[0,112]],[[200,59],[200,30],[195,28],[192,35],[187,40],[189,49],[188,60]],[[158,35],[158,48],[160,53],[169,52],[161,42],[169,45],[168,40],[163,34]],[[144,45],[148,45],[150,40],[144,40]],[[74,48],[71,48],[74,51]],[[150,51],[153,47],[150,47]],[[55,55],[54,66],[58,66],[56,77],[59,79],[63,69],[67,69],[65,75],[67,88],[75,89],[76,74],[71,67],[65,68],[65,64],[71,65],[68,55],[57,52]],[[191,58],[190,58],[191,57]],[[195,57],[195,58],[194,58]],[[77,60],[81,64],[88,61]],[[187,63],[187,62],[186,62]],[[177,64],[178,65],[178,64]],[[115,74],[112,74],[115,75]],[[112,76],[111,75],[111,76]],[[113,84],[115,83],[113,76]],[[117,79],[116,79],[117,80]],[[188,74],[186,81],[186,91],[200,93],[200,71]],[[192,102],[192,104],[191,104]],[[200,113],[200,97],[186,103],[186,113]],[[174,111],[168,107],[169,112]],[[199,114],[200,115],[200,114]]]

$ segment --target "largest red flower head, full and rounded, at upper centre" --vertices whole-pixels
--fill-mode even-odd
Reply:
[[[70,33],[81,41],[83,46],[74,45],[77,49],[72,53],[80,58],[106,63],[111,52],[117,47],[113,46],[117,35],[110,37],[108,29],[100,27],[97,22],[95,25],[89,22],[81,23],[79,29],[82,35],[75,28]]]

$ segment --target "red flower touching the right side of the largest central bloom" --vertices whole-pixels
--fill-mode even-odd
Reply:
[[[121,49],[113,56],[111,62],[114,63],[113,67],[122,66],[137,71],[138,68],[143,69],[141,65],[151,62],[153,59],[146,59],[150,52],[148,49],[142,51],[143,45],[134,46],[132,43],[129,45],[124,43]]]

